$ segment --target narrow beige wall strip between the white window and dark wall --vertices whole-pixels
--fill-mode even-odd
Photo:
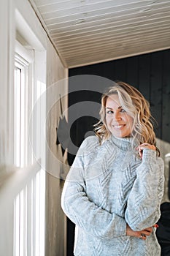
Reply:
[[[63,69],[55,51],[48,45],[47,50],[47,159],[46,159],[46,254],[47,256],[66,255],[66,217],[61,209],[61,180],[59,172],[60,152],[56,146],[56,127],[61,116],[60,95],[63,111],[67,109],[67,69]],[[58,81],[58,82],[56,82]],[[48,111],[49,110],[49,111]]]

